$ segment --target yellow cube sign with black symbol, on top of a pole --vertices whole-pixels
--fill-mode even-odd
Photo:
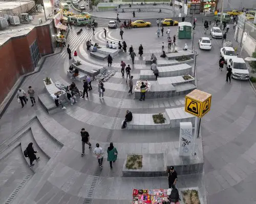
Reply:
[[[195,89],[185,97],[185,111],[199,118],[210,111],[211,94]]]

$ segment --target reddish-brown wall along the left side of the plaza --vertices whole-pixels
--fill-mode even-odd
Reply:
[[[35,40],[41,56],[53,53],[49,25],[35,27],[27,35],[13,37],[1,45],[0,104],[20,75],[34,70],[29,47]]]

